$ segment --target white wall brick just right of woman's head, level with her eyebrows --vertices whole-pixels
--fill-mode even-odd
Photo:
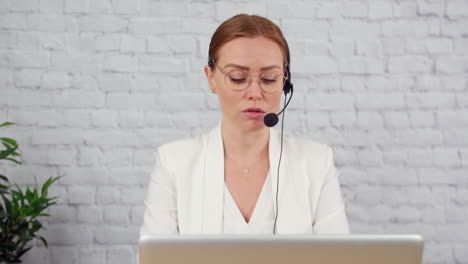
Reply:
[[[336,61],[325,56],[303,57],[294,62],[294,71],[305,74],[332,74],[338,72]]]

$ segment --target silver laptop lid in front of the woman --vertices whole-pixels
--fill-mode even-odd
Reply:
[[[421,264],[419,235],[142,237],[140,264]]]

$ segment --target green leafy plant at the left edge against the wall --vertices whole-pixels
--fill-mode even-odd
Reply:
[[[13,123],[5,122],[0,127]],[[0,138],[4,150],[0,160],[21,164],[19,146],[11,138]],[[22,190],[12,186],[5,175],[0,175],[0,263],[21,263],[21,257],[32,248],[31,241],[40,239],[47,247],[47,241],[38,231],[43,227],[38,217],[48,216],[44,210],[57,203],[57,197],[48,197],[48,189],[59,177],[50,177],[40,188],[35,182],[32,188]]]

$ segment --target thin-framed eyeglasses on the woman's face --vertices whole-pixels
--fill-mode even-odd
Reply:
[[[249,74],[249,72],[243,70],[231,70],[226,72],[219,68],[217,64],[215,65],[216,68],[224,74],[226,86],[234,91],[247,89],[251,83],[252,76],[257,76],[262,91],[265,93],[276,93],[283,90],[284,84],[288,79],[286,72],[283,74],[266,72],[260,75]]]

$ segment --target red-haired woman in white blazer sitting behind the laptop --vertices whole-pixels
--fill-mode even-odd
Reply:
[[[159,147],[141,235],[348,233],[332,150],[289,137],[281,146],[264,124],[289,85],[281,30],[259,16],[228,19],[205,74],[222,121]]]

